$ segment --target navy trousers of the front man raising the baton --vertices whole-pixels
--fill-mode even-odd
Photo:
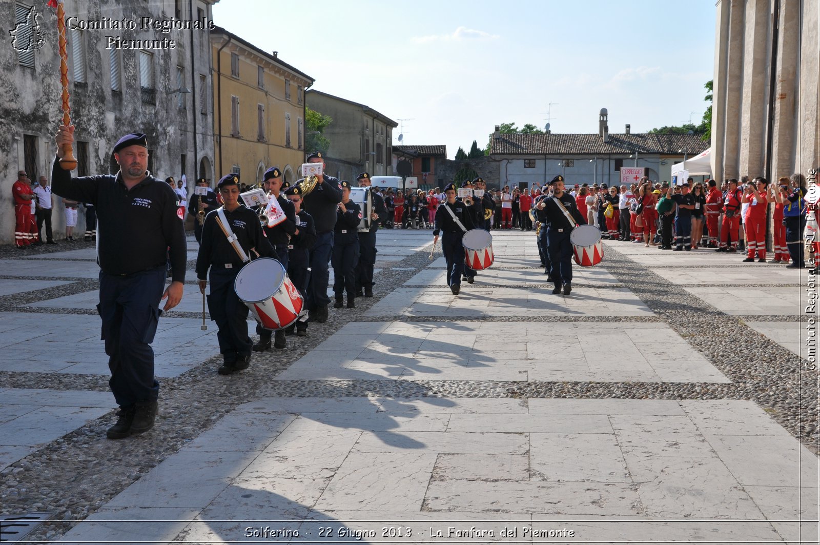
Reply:
[[[123,409],[138,401],[156,401],[159,396],[151,343],[165,277],[165,264],[127,276],[100,271],[97,310],[103,318],[102,338],[111,369],[108,386]]]

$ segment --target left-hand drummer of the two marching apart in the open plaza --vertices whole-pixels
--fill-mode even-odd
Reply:
[[[447,195],[447,202],[441,204],[435,211],[433,245],[435,246],[439,240],[439,233],[441,233],[441,250],[447,261],[447,285],[453,295],[458,295],[464,269],[462,236],[465,232],[475,228],[478,217],[470,197],[464,199],[463,203],[456,200],[455,184],[450,183],[444,187],[444,195]]]

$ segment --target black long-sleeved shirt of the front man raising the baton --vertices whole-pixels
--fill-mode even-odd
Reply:
[[[170,256],[174,282],[185,282],[185,227],[171,185],[145,172],[144,179],[128,190],[119,172],[73,178],[58,163],[52,165],[54,194],[96,208],[97,262],[103,272],[145,271],[165,265]]]

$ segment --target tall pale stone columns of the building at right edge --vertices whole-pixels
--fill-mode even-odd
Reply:
[[[818,2],[717,0],[712,172],[776,180],[818,167]]]

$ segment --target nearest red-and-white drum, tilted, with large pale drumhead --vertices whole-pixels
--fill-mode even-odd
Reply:
[[[285,267],[276,259],[254,259],[234,281],[239,299],[251,309],[253,318],[266,329],[282,329],[302,312],[302,295],[290,282]]]

